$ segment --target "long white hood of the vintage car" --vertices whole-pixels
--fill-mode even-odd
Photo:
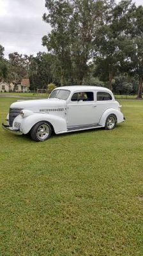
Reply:
[[[61,99],[41,99],[41,100],[24,100],[11,104],[10,108],[30,109],[40,111],[45,108],[65,108],[66,100]]]

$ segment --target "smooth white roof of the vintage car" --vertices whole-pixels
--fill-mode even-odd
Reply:
[[[75,91],[86,91],[86,90],[100,90],[100,91],[106,91],[112,93],[108,88],[100,87],[100,86],[91,86],[91,85],[71,85],[71,86],[61,86],[57,87],[56,89],[62,89],[62,90],[70,90],[71,92]],[[55,89],[55,90],[56,90]]]

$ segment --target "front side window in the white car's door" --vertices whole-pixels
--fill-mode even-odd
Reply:
[[[75,92],[72,95],[72,101],[93,101],[93,92]]]

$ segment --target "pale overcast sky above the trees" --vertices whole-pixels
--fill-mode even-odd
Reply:
[[[135,0],[142,4],[143,0]],[[47,51],[41,45],[41,37],[50,31],[42,20],[45,0],[0,0],[0,44],[8,58],[10,52],[36,54]]]

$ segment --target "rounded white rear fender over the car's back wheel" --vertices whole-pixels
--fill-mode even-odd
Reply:
[[[100,118],[99,125],[105,126],[107,116],[109,116],[111,114],[116,115],[117,123],[124,122],[124,116],[123,116],[123,113],[121,113],[121,111],[114,109],[114,108],[109,108],[109,109],[105,110],[102,117]]]

